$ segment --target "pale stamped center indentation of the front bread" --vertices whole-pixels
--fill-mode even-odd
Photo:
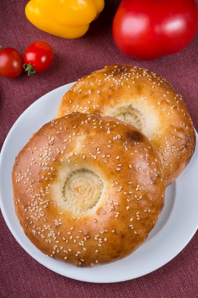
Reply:
[[[65,207],[79,215],[87,213],[98,203],[103,182],[99,175],[88,169],[78,169],[69,173],[62,189]]]

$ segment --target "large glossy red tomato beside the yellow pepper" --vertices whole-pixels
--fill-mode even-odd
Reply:
[[[140,60],[180,52],[197,29],[195,0],[122,0],[113,20],[117,47]]]

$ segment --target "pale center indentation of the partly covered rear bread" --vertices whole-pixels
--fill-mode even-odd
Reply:
[[[138,109],[134,109],[131,105],[119,108],[118,112],[115,112],[110,116],[132,124],[141,131],[143,131],[146,126],[146,121],[141,112]]]

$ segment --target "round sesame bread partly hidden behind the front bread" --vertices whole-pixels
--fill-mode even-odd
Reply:
[[[74,111],[101,113],[139,128],[161,158],[166,186],[194,153],[195,131],[182,97],[144,69],[112,65],[83,76],[63,96],[56,118]]]

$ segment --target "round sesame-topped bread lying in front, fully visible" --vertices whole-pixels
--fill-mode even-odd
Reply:
[[[72,113],[44,125],[19,152],[14,206],[27,237],[76,266],[137,249],[164,205],[161,161],[135,127]]]

